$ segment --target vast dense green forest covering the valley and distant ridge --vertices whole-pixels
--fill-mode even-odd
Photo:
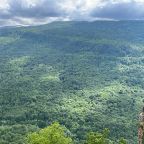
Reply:
[[[74,143],[110,130],[137,141],[144,21],[53,22],[0,29],[0,144],[59,122]]]

